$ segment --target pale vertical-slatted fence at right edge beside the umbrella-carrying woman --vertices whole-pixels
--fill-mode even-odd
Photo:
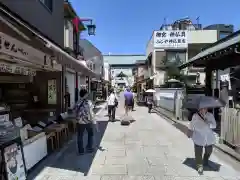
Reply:
[[[221,138],[227,143],[240,146],[240,109],[224,107],[221,114]]]

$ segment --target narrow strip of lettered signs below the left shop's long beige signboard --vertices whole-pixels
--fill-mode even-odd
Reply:
[[[12,64],[0,63],[0,72],[20,74],[25,76],[35,76],[36,71],[30,68],[16,66]]]

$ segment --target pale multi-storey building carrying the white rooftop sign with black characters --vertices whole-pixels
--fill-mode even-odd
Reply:
[[[201,24],[194,24],[190,19],[180,19],[173,24],[163,24],[158,31],[154,31],[146,49],[149,77],[154,86],[165,82],[166,63],[185,63],[198,54],[205,46],[216,42],[221,33],[219,26],[202,28]],[[188,68],[185,74],[192,76],[195,83],[200,74],[201,84],[205,84],[205,73],[202,68]]]

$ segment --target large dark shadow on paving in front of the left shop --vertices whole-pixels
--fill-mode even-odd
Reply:
[[[98,121],[99,132],[95,131],[94,144],[96,150],[94,153],[84,154],[79,156],[77,154],[77,144],[76,137],[72,141],[63,147],[62,151],[53,153],[46,157],[42,162],[40,162],[36,167],[34,167],[30,173],[28,173],[28,180],[34,180],[38,175],[45,174],[44,168],[51,167],[56,168],[56,173],[60,170],[64,171],[75,171],[81,172],[85,176],[88,174],[96,152],[105,151],[103,147],[100,146],[101,140],[107,128],[108,121]],[[84,135],[84,145],[87,144],[87,133]]]

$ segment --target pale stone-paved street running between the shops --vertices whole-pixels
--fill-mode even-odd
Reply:
[[[123,117],[122,106],[117,119]],[[146,107],[135,109],[131,115],[136,121],[130,126],[108,123],[102,111],[98,135],[104,134],[97,138],[102,139],[96,154],[77,156],[73,142],[35,180],[240,180],[239,171],[216,155],[212,168],[199,176],[192,141],[157,114],[148,114]]]

